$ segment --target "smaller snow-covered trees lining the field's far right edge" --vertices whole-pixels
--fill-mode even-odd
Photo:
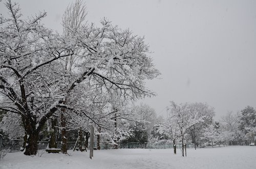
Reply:
[[[228,111],[220,122],[215,122],[214,108],[203,103],[170,103],[167,117],[155,125],[158,141],[171,140],[173,144],[194,143],[197,147],[248,145],[256,143],[256,111],[247,106],[237,113]],[[183,150],[182,150],[183,152]]]

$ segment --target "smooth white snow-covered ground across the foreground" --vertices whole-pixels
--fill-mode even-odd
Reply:
[[[222,148],[188,149],[187,157],[173,149],[119,149],[88,152],[69,151],[69,155],[39,152],[39,156],[9,153],[0,161],[0,168],[256,168],[256,147],[229,146]]]

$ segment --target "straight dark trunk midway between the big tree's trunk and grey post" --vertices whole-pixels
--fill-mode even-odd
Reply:
[[[61,125],[61,153],[67,154],[68,147],[67,147],[67,137],[66,137],[66,117],[64,108],[61,109],[60,113],[60,125]]]

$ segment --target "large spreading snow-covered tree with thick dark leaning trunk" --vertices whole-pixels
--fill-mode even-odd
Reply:
[[[0,107],[20,115],[29,135],[26,155],[36,154],[38,134],[57,110],[82,107],[71,105],[77,92],[133,100],[154,95],[144,80],[160,73],[144,39],[130,30],[106,19],[99,28],[84,22],[81,1],[63,15],[62,35],[41,24],[45,12],[24,20],[17,4],[9,0],[5,5],[10,16],[0,25],[0,92],[6,102]],[[90,96],[84,100],[91,102]]]

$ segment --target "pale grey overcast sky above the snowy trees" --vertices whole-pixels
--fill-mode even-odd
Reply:
[[[5,13],[3,2],[0,13]],[[17,1],[16,1],[17,2]],[[68,0],[18,1],[24,16],[46,11],[46,26],[61,32]],[[161,79],[144,102],[158,114],[169,101],[207,102],[218,119],[227,111],[256,107],[256,1],[87,0],[88,21],[106,17],[145,36]]]

